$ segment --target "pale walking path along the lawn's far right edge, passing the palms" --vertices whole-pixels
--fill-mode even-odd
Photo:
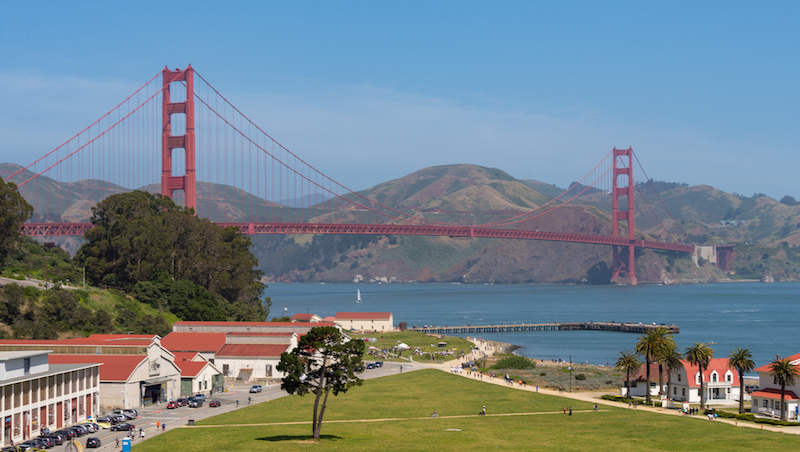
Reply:
[[[481,351],[481,355],[480,356],[473,356],[472,354],[469,354],[469,355],[467,355],[467,357],[466,357],[466,359],[464,361],[457,360],[457,361],[448,361],[448,362],[436,363],[436,364],[427,364],[427,363],[418,363],[418,364],[421,364],[421,365],[426,366],[428,368],[433,368],[433,369],[438,369],[438,370],[441,370],[441,371],[444,371],[444,372],[453,373],[451,371],[451,369],[454,366],[458,366],[459,364],[462,364],[463,362],[468,362],[468,361],[471,361],[472,359],[475,359],[475,358],[482,358],[483,356],[494,355],[495,353],[497,353],[499,351],[499,347],[496,344],[493,344],[491,342],[479,341],[479,340],[472,340],[472,342],[475,344],[476,347],[478,347],[480,349],[480,351]],[[554,390],[551,390],[551,389],[539,388],[539,387],[536,387],[536,386],[533,386],[533,385],[526,386],[526,385],[519,385],[517,383],[514,383],[513,385],[509,385],[504,378],[500,378],[500,377],[494,377],[493,378],[493,377],[490,377],[488,375],[482,375],[482,374],[477,373],[477,372],[467,372],[466,370],[464,372],[458,373],[457,375],[460,375],[460,376],[462,376],[464,378],[471,378],[473,380],[478,380],[478,381],[481,381],[481,382],[484,382],[484,383],[495,384],[495,385],[500,385],[500,386],[505,386],[505,387],[513,387],[513,389],[517,389],[517,390],[520,390],[520,391],[539,392],[539,393],[542,393],[542,394],[548,394],[548,395],[553,395],[553,396],[558,396],[558,397],[564,397],[564,398],[573,399],[573,400],[580,400],[580,401],[584,401],[584,402],[596,403],[598,405],[613,406],[613,407],[617,407],[617,408],[627,408],[627,409],[631,409],[631,410],[649,411],[651,413],[666,414],[666,415],[672,415],[672,416],[684,416],[684,417],[689,417],[689,418],[692,418],[692,419],[696,419],[698,421],[699,420],[704,420],[706,422],[723,422],[723,423],[726,423],[726,424],[735,425],[737,427],[749,427],[749,428],[755,428],[755,429],[759,429],[759,430],[769,430],[769,431],[773,431],[773,432],[790,433],[790,434],[793,434],[793,435],[800,435],[800,426],[787,427],[787,426],[782,426],[782,425],[756,424],[754,422],[739,421],[737,419],[724,419],[724,418],[717,418],[717,419],[715,419],[713,421],[709,421],[708,418],[705,415],[701,414],[701,415],[690,416],[690,415],[683,414],[681,412],[681,410],[678,410],[678,409],[652,407],[652,406],[646,406],[644,404],[639,404],[639,405],[636,405],[635,407],[626,407],[625,404],[623,404],[623,403],[613,402],[611,400],[602,399],[601,396],[607,394],[607,393],[604,393],[604,392],[561,392],[561,391],[554,391]]]

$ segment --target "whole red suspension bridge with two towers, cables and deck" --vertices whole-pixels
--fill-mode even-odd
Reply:
[[[30,236],[82,235],[92,227],[91,207],[97,202],[140,189],[171,197],[198,216],[245,234],[428,235],[607,245],[613,249],[612,280],[636,284],[637,248],[681,253],[695,248],[668,232],[668,226],[679,228],[674,219],[657,219],[663,241],[636,237],[634,216],[648,212],[636,211],[636,195],[653,216],[657,209],[635,182],[634,161],[632,149],[615,148],[561,195],[502,216],[403,212],[379,196],[350,190],[282,146],[189,66],[165,68],[61,146],[2,176],[15,182],[34,206],[33,218],[23,226]],[[159,166],[160,177],[154,171]],[[593,197],[610,198],[610,228],[538,229],[537,219]],[[457,218],[470,218],[473,224],[460,224]],[[729,269],[732,251],[717,249],[721,268]]]

